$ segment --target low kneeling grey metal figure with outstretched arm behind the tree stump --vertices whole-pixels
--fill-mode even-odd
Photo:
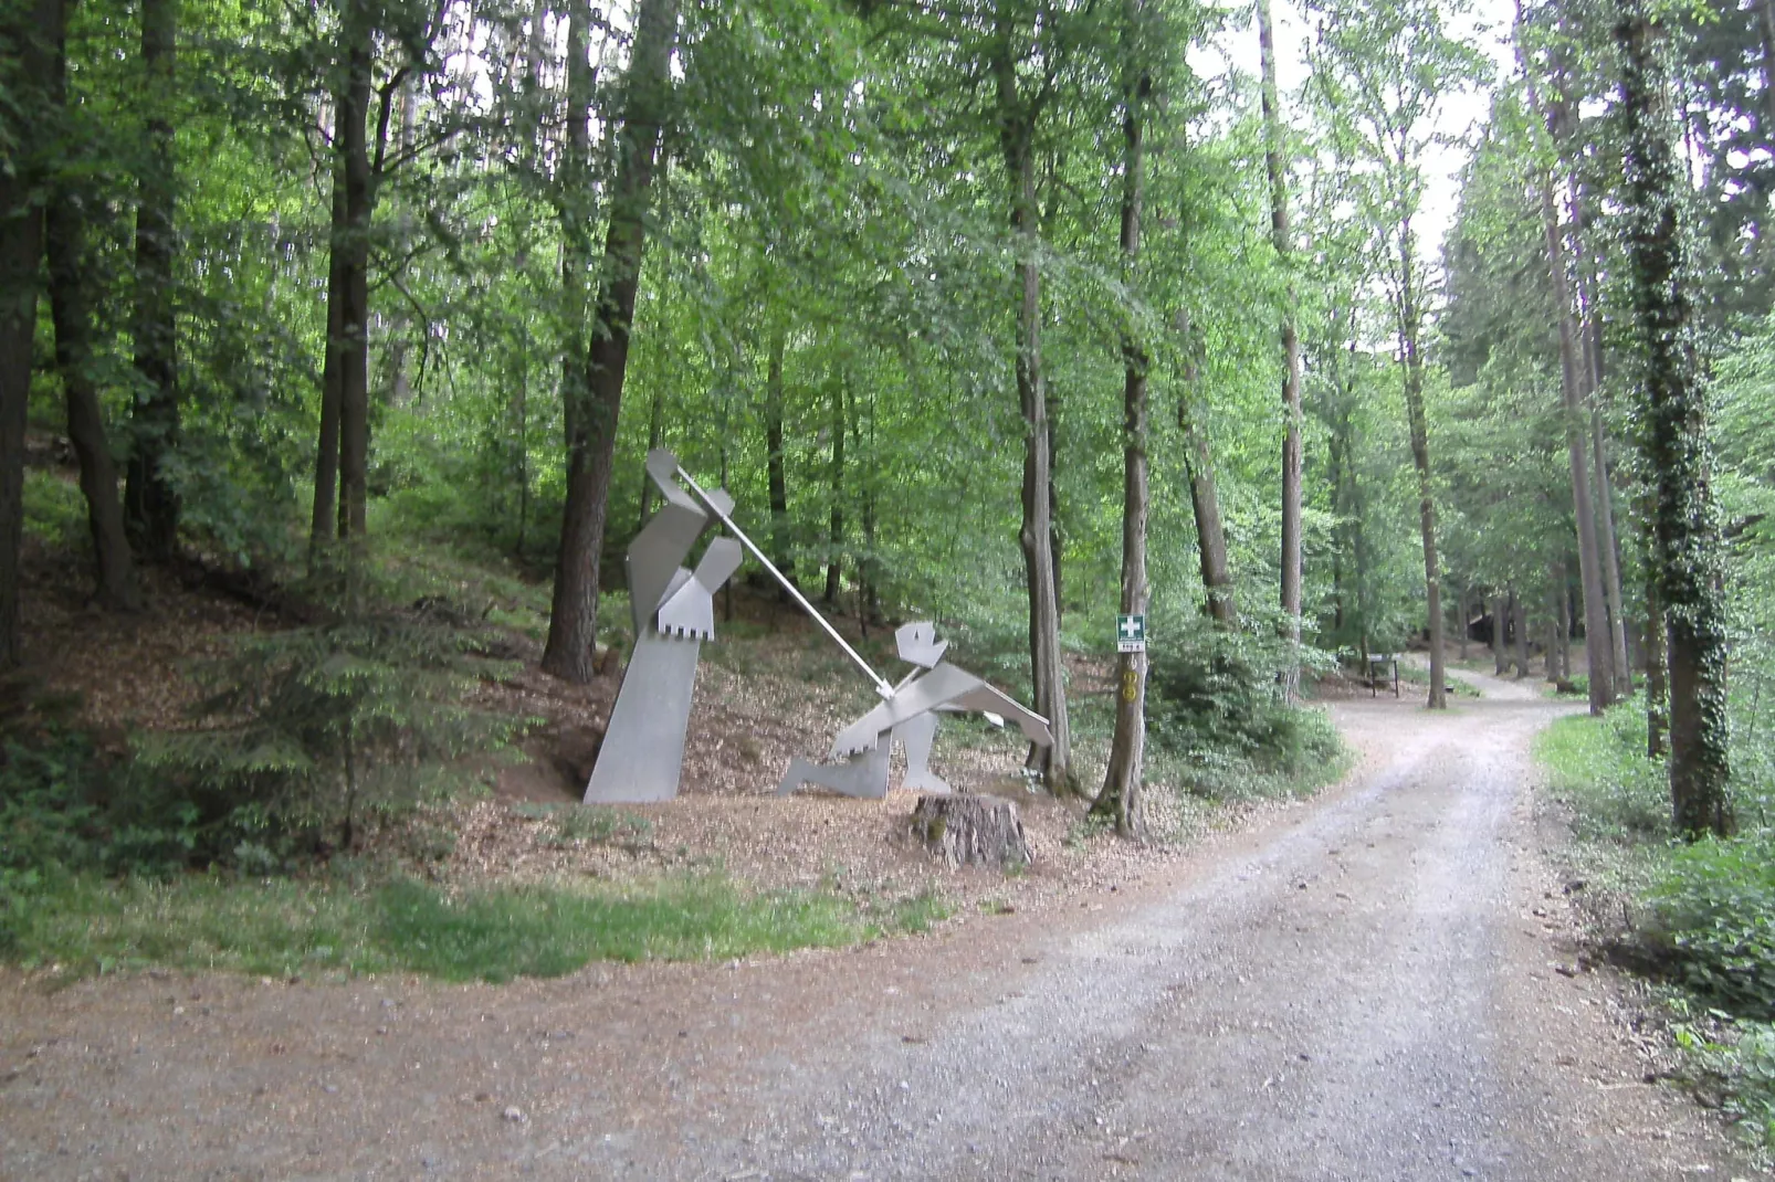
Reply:
[[[978,710],[1001,726],[1008,717],[1030,742],[1042,747],[1054,742],[1047,719],[1024,710],[1015,699],[943,660],[950,642],[939,642],[930,623],[902,625],[895,632],[895,642],[900,658],[919,669],[893,687],[884,703],[838,733],[831,758],[845,760],[843,763],[820,767],[797,756],[777,784],[777,795],[786,795],[802,784],[818,784],[847,797],[882,799],[888,795],[888,754],[895,740],[905,745],[903,786],[948,793],[950,784],[930,770],[939,712]]]

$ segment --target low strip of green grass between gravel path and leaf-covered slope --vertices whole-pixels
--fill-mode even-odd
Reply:
[[[754,894],[721,877],[628,889],[446,893],[398,879],[69,875],[0,898],[0,955],[85,976],[146,965],[268,976],[410,971],[449,981],[561,976],[591,960],[712,960],[923,932],[935,896],[863,909],[822,891]]]

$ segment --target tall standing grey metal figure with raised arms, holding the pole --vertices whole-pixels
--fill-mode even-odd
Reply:
[[[616,690],[598,763],[586,784],[586,804],[678,795],[696,662],[703,641],[715,639],[715,591],[746,559],[731,538],[715,538],[696,571],[683,566],[708,527],[708,513],[673,479],[678,472],[678,460],[669,451],[648,453],[648,477],[664,502],[628,547],[635,653]],[[722,516],[733,508],[721,490],[698,490],[698,495],[710,508],[719,506]]]

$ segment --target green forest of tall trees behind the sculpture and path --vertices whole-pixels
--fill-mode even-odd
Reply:
[[[667,447],[1125,838],[1152,760],[1329,760],[1312,687],[1415,651],[1432,710],[1583,696],[1644,832],[1775,902],[1770,0],[4,0],[0,46],[7,891],[362,847],[524,735],[477,687],[609,676]],[[263,623],[128,792],[55,786],[105,761],[37,692],[57,570]]]

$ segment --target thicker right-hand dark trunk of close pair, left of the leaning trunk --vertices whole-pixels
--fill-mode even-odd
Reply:
[[[362,538],[369,509],[369,94],[373,30],[366,0],[351,0],[344,21],[346,80],[339,103],[344,135],[346,264],[339,314],[339,536]]]

